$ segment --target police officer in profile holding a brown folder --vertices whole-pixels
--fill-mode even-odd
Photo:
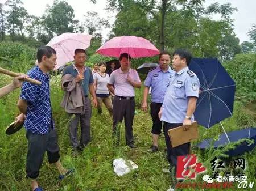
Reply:
[[[163,106],[159,112],[159,118],[164,122],[167,157],[169,163],[174,166],[174,176],[176,175],[177,156],[189,154],[190,143],[172,148],[168,130],[177,126],[192,124],[193,113],[199,97],[199,79],[188,69],[191,58],[192,55],[188,50],[175,50],[172,69],[176,73],[170,80]]]

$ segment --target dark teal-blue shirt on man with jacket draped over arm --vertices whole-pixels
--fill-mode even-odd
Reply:
[[[70,65],[64,69],[63,75],[65,75],[65,74],[71,74],[73,77],[77,77],[77,75],[78,75],[76,68],[73,65]],[[89,84],[93,83],[93,75],[92,75],[92,70],[90,70],[90,68],[87,66],[85,66],[84,80],[82,82],[83,82],[82,87],[84,90],[84,94],[88,95],[89,94]]]

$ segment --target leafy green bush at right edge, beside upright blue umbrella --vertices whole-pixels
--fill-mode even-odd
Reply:
[[[237,54],[224,66],[237,85],[236,97],[242,103],[256,99],[256,54]]]

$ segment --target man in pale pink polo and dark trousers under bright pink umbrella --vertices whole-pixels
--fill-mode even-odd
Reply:
[[[120,138],[117,125],[118,122],[122,122],[124,117],[126,145],[136,148],[133,140],[134,88],[141,88],[141,80],[137,71],[130,68],[130,60],[129,54],[120,55],[121,67],[110,75],[108,88],[115,95],[113,100],[113,133],[117,134],[117,143],[119,143]]]

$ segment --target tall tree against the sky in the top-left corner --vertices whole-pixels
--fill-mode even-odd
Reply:
[[[5,3],[10,10],[6,11],[7,29],[14,40],[15,33],[20,32],[24,36],[24,27],[28,20],[27,10],[22,7],[21,0],[7,0]]]

